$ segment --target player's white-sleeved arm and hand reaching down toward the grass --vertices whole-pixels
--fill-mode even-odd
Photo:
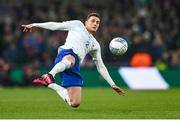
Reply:
[[[112,80],[111,76],[109,75],[109,72],[106,68],[106,66],[103,63],[103,60],[101,58],[101,52],[100,50],[97,50],[92,54],[93,56],[93,61],[96,64],[98,72],[101,74],[101,76],[109,83],[109,85],[119,94],[119,95],[124,95],[124,91],[118,87],[114,81]]]

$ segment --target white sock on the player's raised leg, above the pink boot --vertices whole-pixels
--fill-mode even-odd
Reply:
[[[52,68],[52,70],[49,73],[54,77],[57,73],[62,72],[65,69],[66,65],[62,62],[59,62]]]

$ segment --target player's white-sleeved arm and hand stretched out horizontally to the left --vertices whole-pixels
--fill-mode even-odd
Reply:
[[[32,23],[27,25],[21,25],[23,32],[31,32],[33,27],[44,28],[48,30],[63,30],[68,31],[81,24],[78,20],[65,21],[65,22],[44,22],[44,23]]]

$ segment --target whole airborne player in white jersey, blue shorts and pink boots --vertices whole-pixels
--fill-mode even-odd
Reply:
[[[55,66],[48,74],[33,80],[33,83],[55,90],[70,106],[78,107],[81,102],[83,86],[83,79],[80,75],[80,63],[85,55],[89,53],[102,77],[119,95],[124,95],[124,91],[111,79],[101,58],[100,45],[93,36],[99,25],[100,15],[98,13],[88,14],[84,24],[79,20],[72,20],[22,25],[23,32],[31,32],[33,27],[68,31],[65,44],[58,48]],[[62,86],[54,82],[54,77],[57,73],[60,74]]]

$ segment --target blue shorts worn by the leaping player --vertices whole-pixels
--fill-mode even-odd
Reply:
[[[73,52],[73,50],[71,49],[60,50],[54,62],[55,64],[57,64],[66,55],[73,55],[75,58],[75,64],[71,68],[59,73],[61,78],[61,85],[65,88],[72,86],[82,87],[83,80],[80,75],[80,61],[78,56]]]

